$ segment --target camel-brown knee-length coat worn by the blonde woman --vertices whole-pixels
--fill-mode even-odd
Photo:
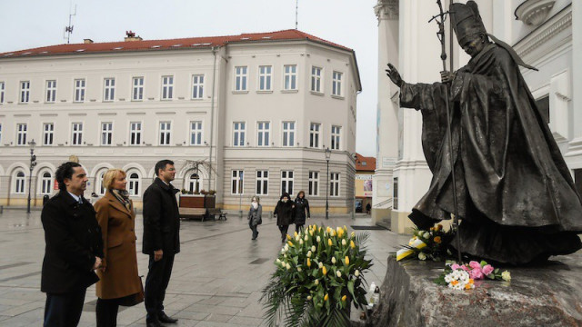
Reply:
[[[110,192],[95,203],[101,227],[105,272],[97,270],[97,297],[117,299],[142,291],[135,253],[134,205],[128,210]]]

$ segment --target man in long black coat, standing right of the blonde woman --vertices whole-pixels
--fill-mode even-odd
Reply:
[[[144,247],[149,255],[146,278],[147,327],[159,327],[160,322],[175,323],[164,312],[166,288],[170,282],[174,255],[180,252],[180,216],[176,193],[170,183],[176,177],[174,162],[156,163],[156,180],[144,193]]]

